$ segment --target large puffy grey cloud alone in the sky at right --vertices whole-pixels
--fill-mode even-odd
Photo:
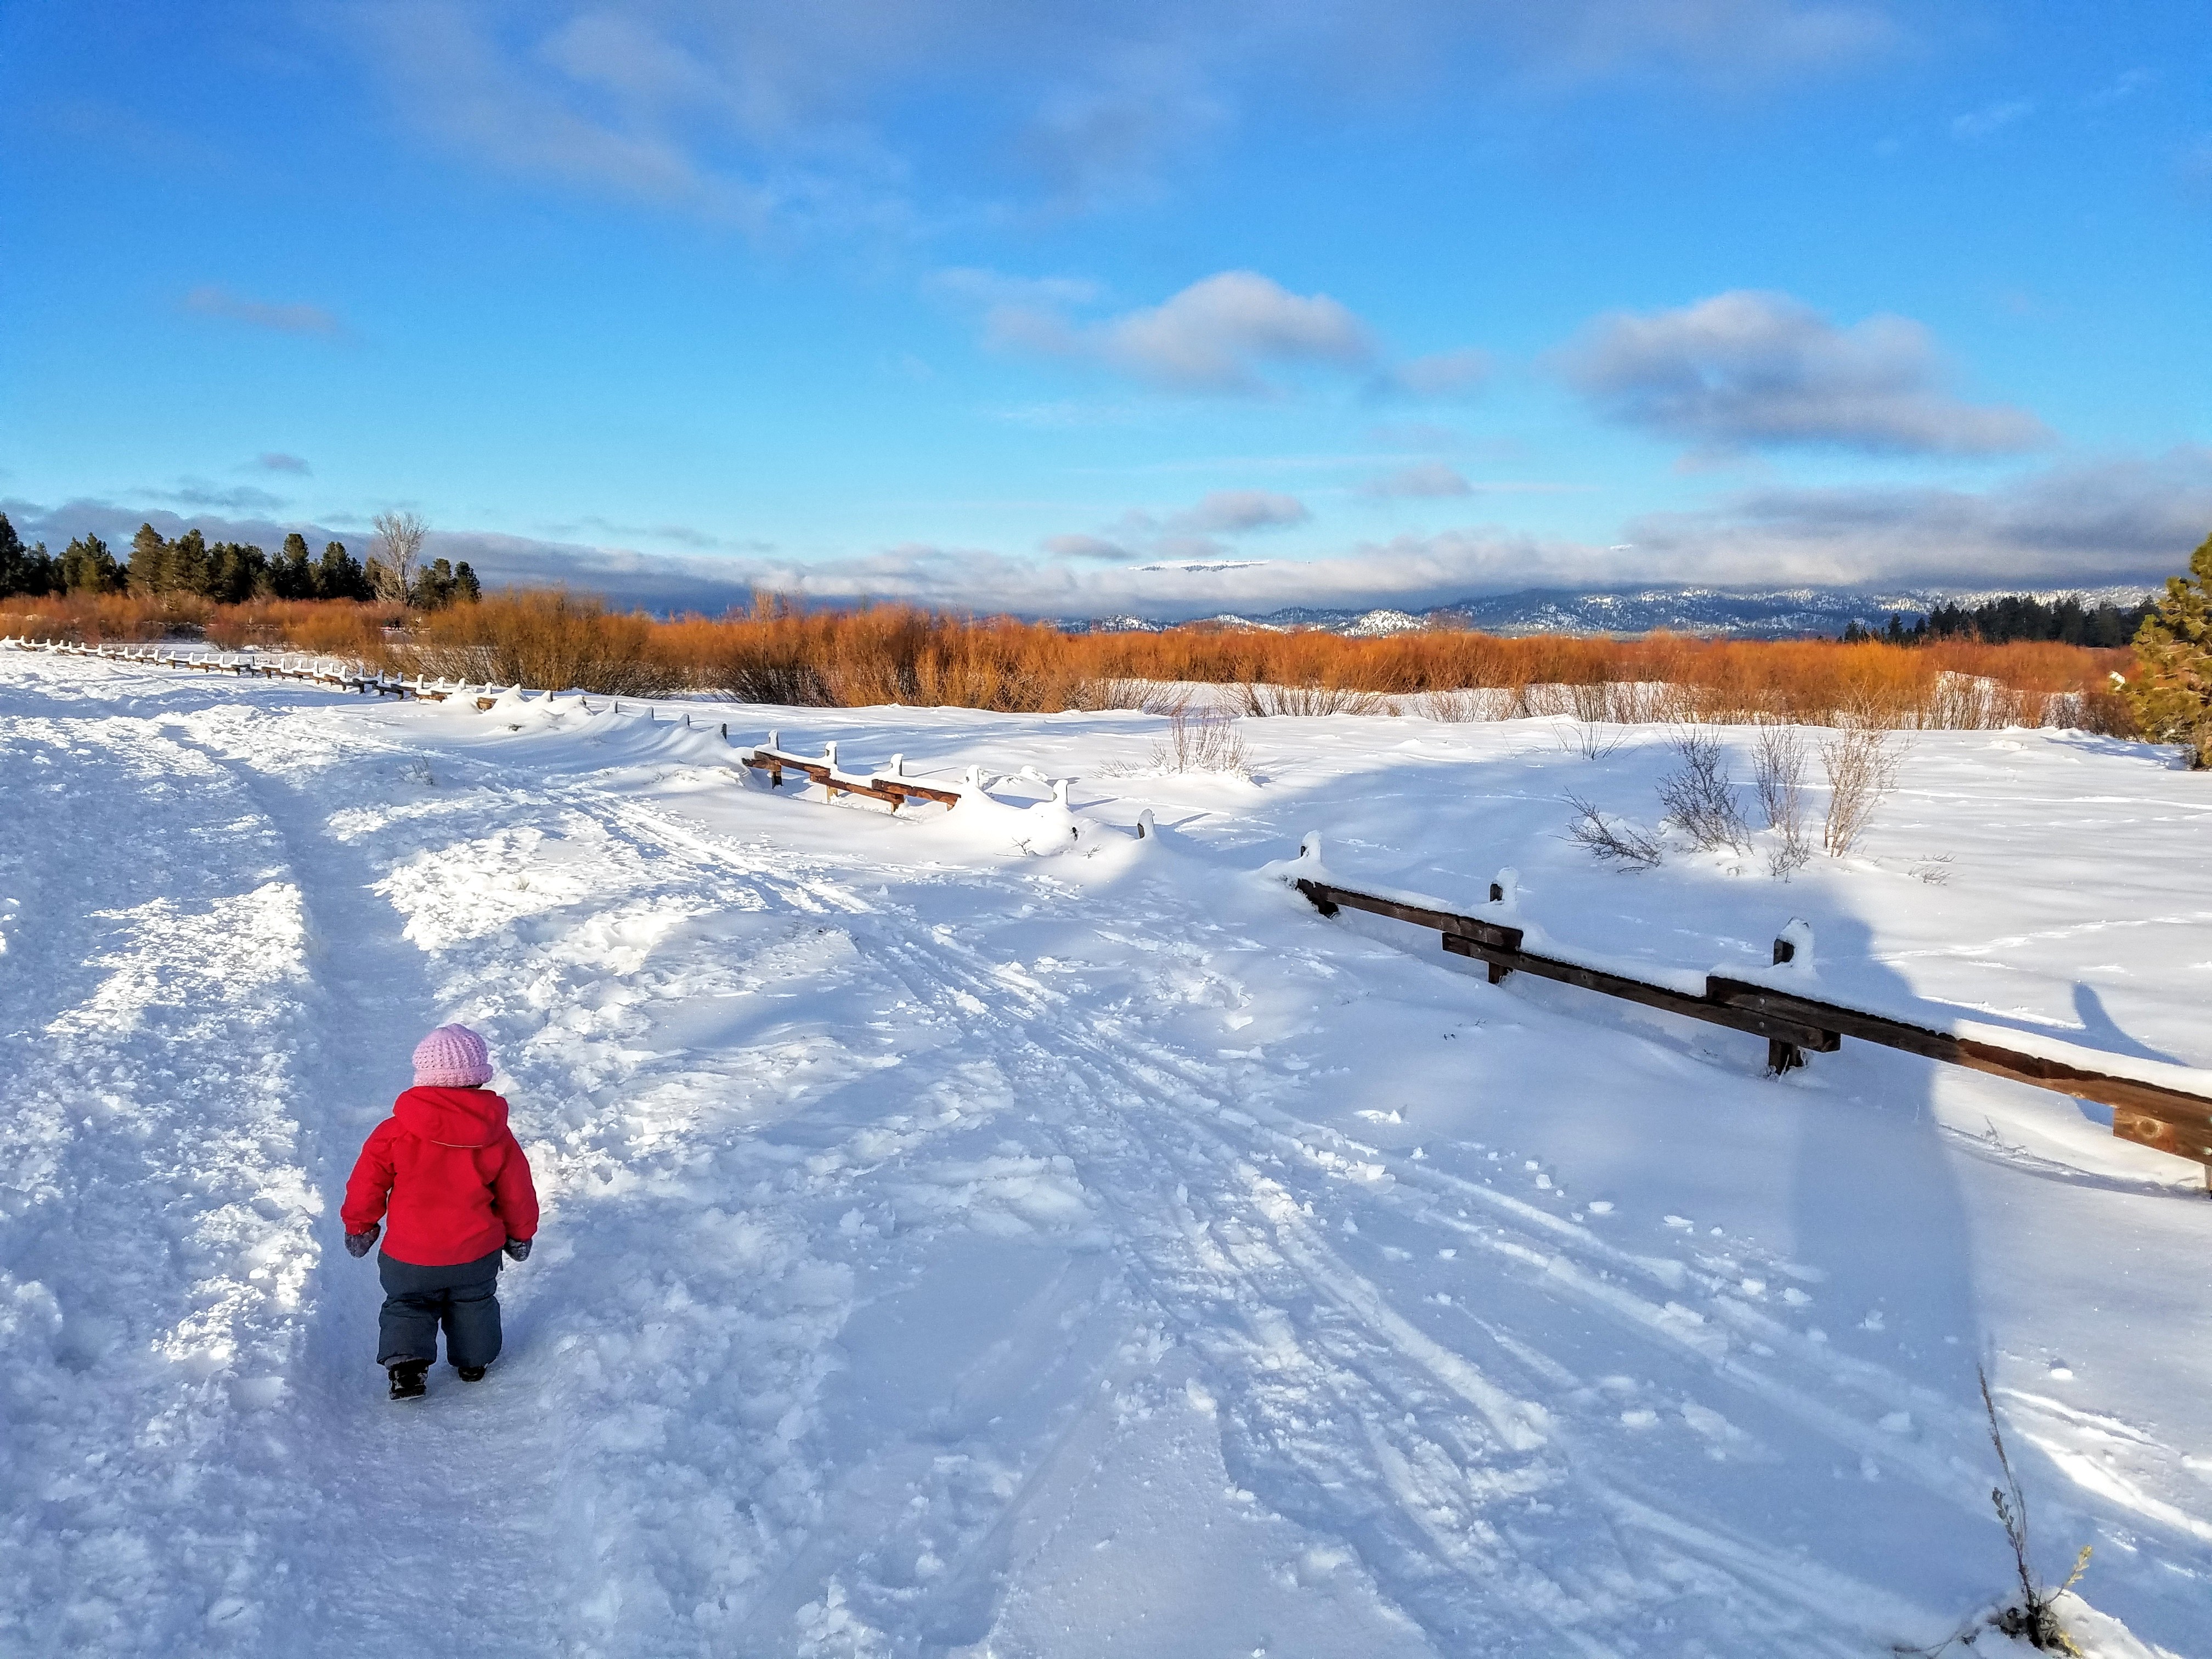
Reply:
[[[1674,312],[1615,312],[1559,365],[1610,420],[1708,451],[1827,445],[1991,456],[2051,438],[2026,409],[1944,392],[1942,361],[1920,323],[1869,316],[1836,327],[1787,294],[1736,290]]]

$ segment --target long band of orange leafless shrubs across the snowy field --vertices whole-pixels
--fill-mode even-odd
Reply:
[[[1164,633],[1064,635],[1009,617],[918,606],[803,611],[763,595],[750,611],[657,622],[562,591],[509,591],[411,622],[396,606],[190,597],[0,602],[0,633],[155,639],[188,628],[223,646],[294,646],[449,679],[675,690],[739,701],[852,708],[956,703],[1051,712],[1135,701],[1130,684],[1243,688],[1245,708],[1356,706],[1352,695],[1418,697],[1502,688],[1511,712],[1584,719],[1863,721],[1876,726],[2086,723],[2128,732],[2108,692],[2126,650],[1947,639],[1927,646],[1832,639],[1697,639],[1652,633],[1500,637],[1455,628],[1345,639],[1192,624]],[[1283,686],[1343,697],[1261,697]],[[1535,697],[1535,686],[1566,695]],[[1628,692],[1624,688],[1637,688]],[[1663,688],[1663,690],[1650,690]]]

